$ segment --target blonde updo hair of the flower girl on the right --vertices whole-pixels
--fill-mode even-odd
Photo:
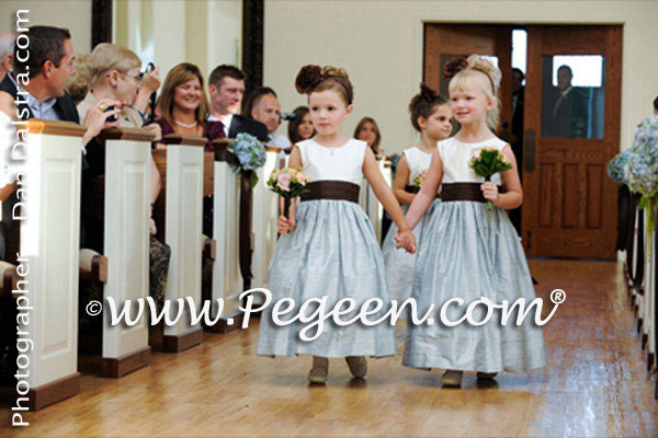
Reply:
[[[498,90],[502,74],[498,67],[480,55],[470,55],[468,59],[457,58],[445,64],[443,76],[451,78],[450,93],[467,90],[476,84],[494,102],[494,108],[487,112],[487,126],[496,130],[500,123],[500,100]]]

